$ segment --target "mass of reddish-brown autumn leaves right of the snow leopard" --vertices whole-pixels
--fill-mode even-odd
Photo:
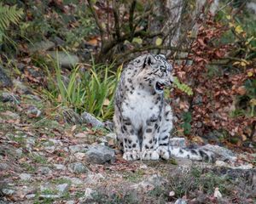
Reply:
[[[236,48],[235,43],[219,42],[224,32],[230,29],[228,26],[215,22],[211,14],[200,25],[198,35],[191,43],[188,59],[183,60],[181,65],[175,65],[175,76],[189,84],[194,95],[188,96],[175,89],[172,105],[177,116],[182,116],[183,112],[191,114],[191,131],[188,133],[191,138],[207,138],[213,130],[218,130],[227,137],[222,142],[241,145],[242,141],[253,139],[256,117],[253,110],[250,110],[251,115],[232,116],[232,113],[250,107],[252,101],[246,97],[244,84],[256,76],[256,70],[253,65],[233,67],[235,58],[229,56]],[[188,61],[193,62],[190,63],[192,65]],[[212,70],[215,72],[210,75]],[[243,96],[244,101],[241,99]],[[180,133],[184,131],[183,122],[182,117],[177,118],[177,131]]]

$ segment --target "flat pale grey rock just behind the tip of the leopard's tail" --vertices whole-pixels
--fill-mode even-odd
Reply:
[[[236,155],[224,147],[218,145],[207,144],[202,149],[211,150],[222,161],[236,161]]]

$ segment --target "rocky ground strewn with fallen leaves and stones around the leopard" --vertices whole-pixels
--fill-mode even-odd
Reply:
[[[127,162],[113,133],[68,125],[38,94],[1,92],[0,100],[1,204],[256,202],[255,154]]]

